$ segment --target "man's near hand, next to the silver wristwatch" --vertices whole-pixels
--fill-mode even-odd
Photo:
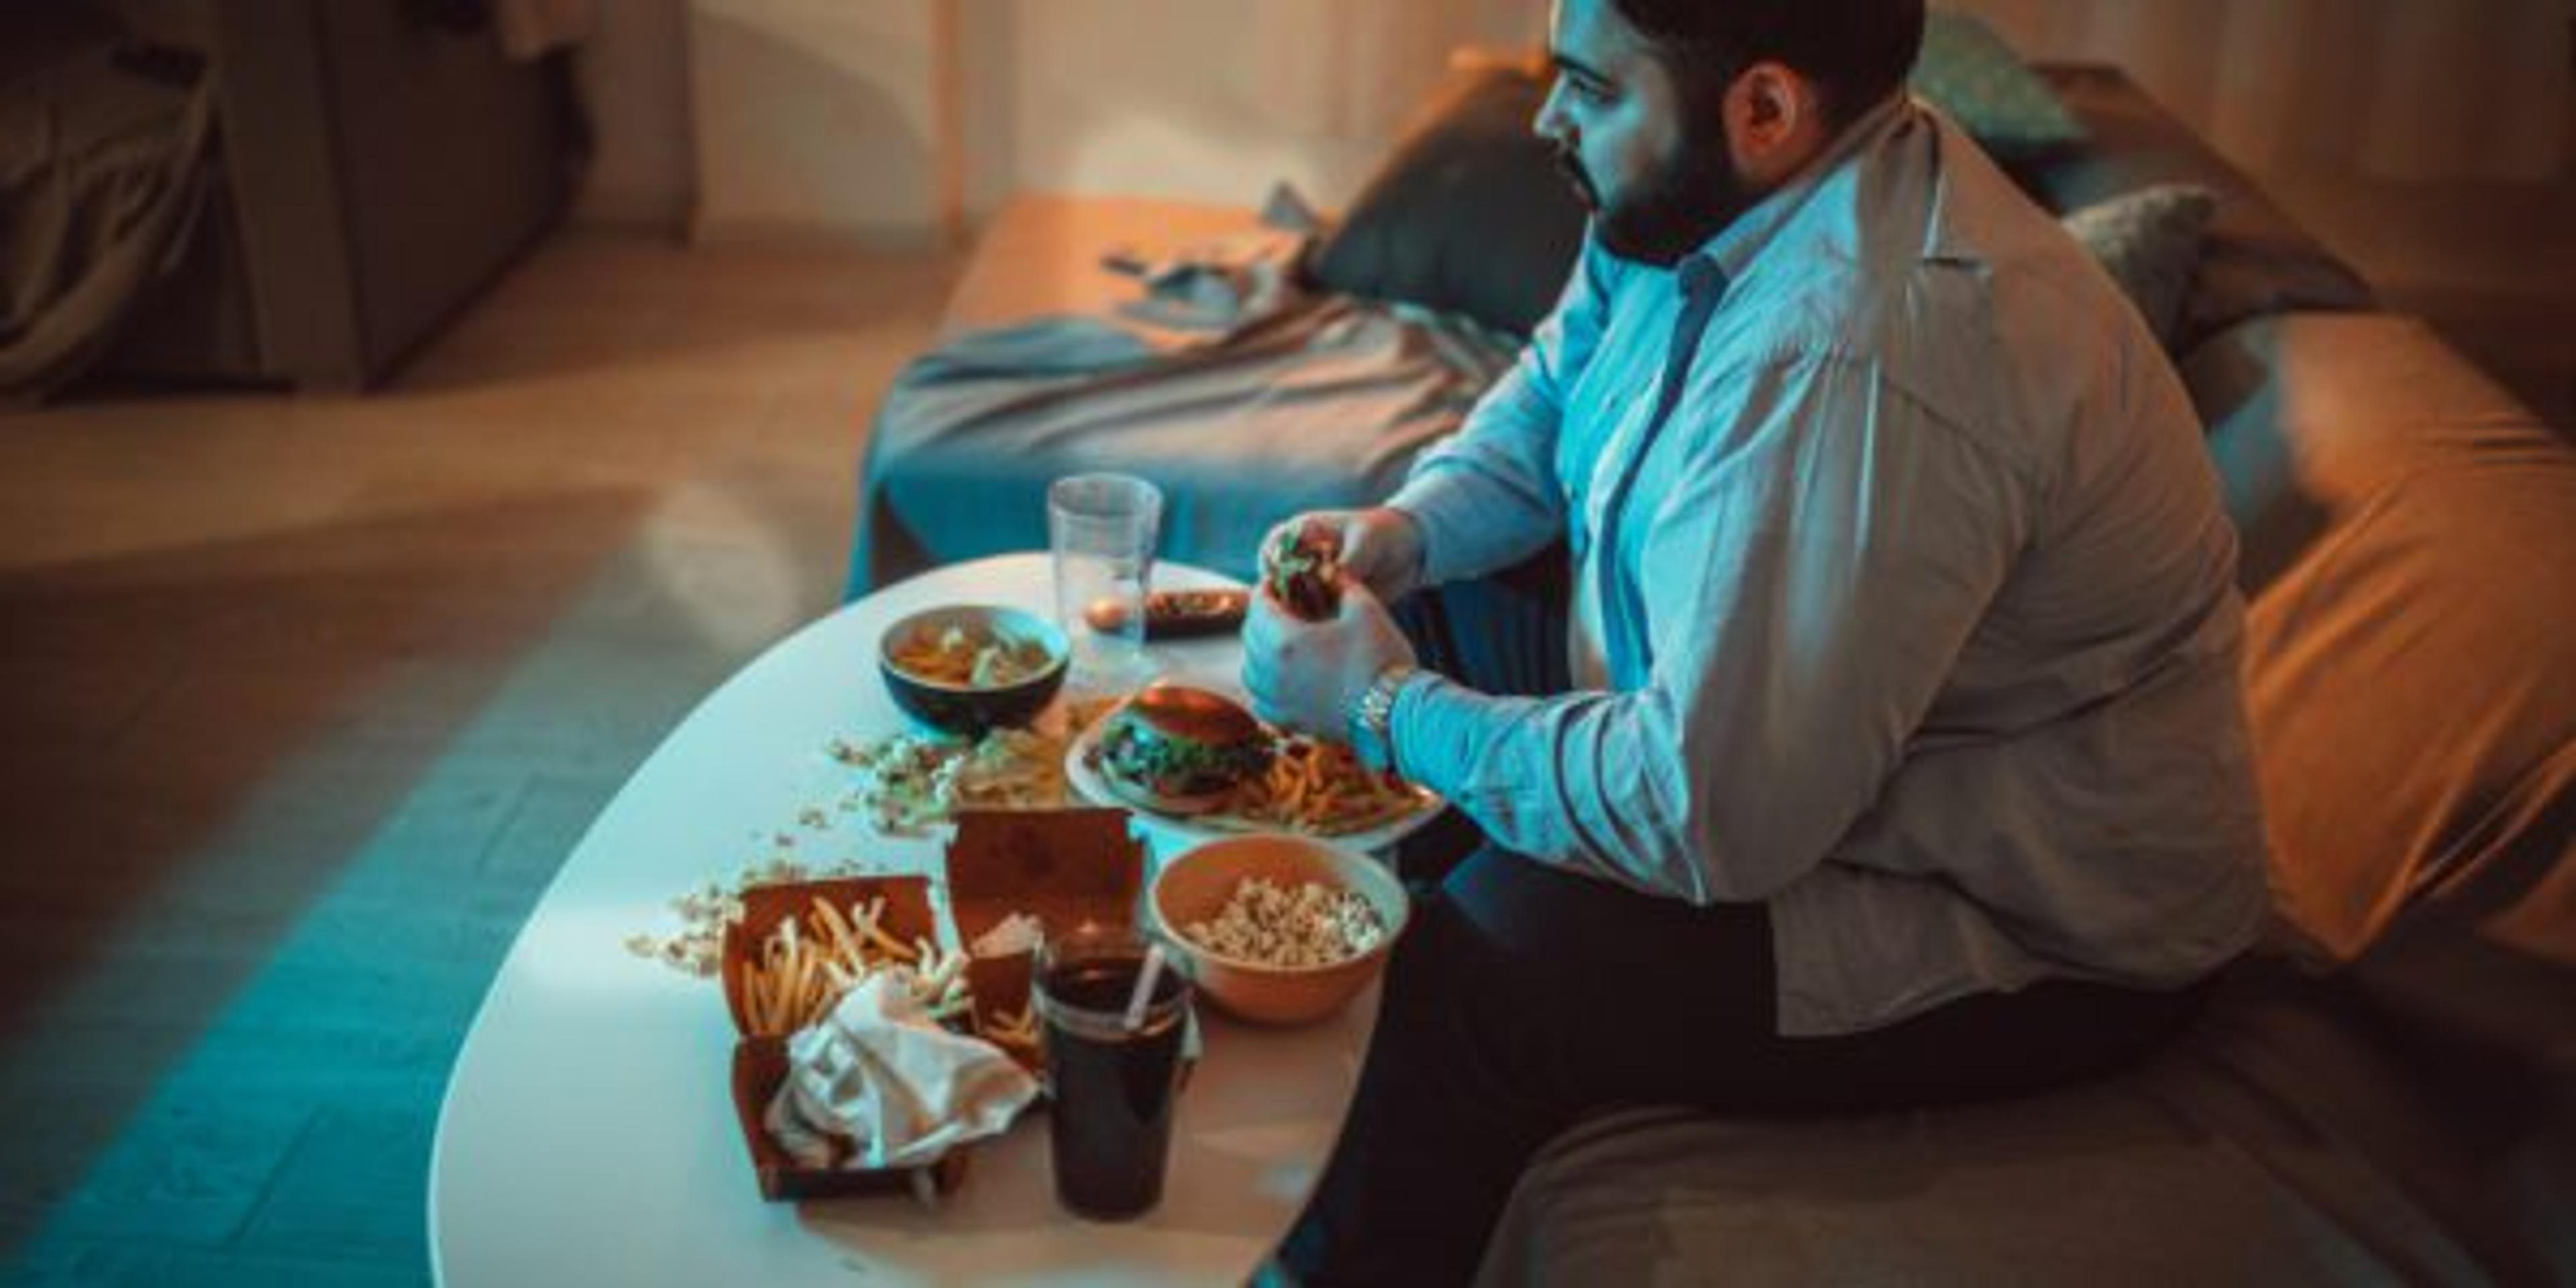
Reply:
[[[1267,590],[1244,618],[1244,690],[1252,711],[1301,734],[1347,742],[1350,703],[1414,647],[1365,585],[1342,580],[1332,621],[1298,621]]]

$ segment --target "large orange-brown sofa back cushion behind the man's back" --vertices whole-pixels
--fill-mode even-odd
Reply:
[[[2576,451],[2403,317],[2259,319],[2184,381],[2246,538],[2277,943],[2576,1072]]]

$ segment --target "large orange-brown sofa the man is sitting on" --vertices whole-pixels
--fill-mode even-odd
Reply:
[[[2576,453],[2421,322],[2378,312],[2120,72],[2045,77],[2087,142],[2007,157],[2038,201],[2063,211],[2177,178],[2221,198],[2174,358],[2244,533],[2275,925],[2184,1041],[2110,1082],[1824,1123],[1605,1113],[1530,1167],[1489,1283],[2576,1280]],[[951,340],[1115,309],[1136,289],[1092,270],[1105,250],[1151,260],[1255,224],[1025,201],[976,252]],[[1373,307],[1314,281],[1319,260],[1303,263],[1309,289]],[[1188,343],[1139,353],[1110,384],[1131,392],[1175,353],[1221,366]],[[1239,420],[1303,379],[1296,361],[1267,363],[1157,404],[1159,428],[1136,440],[1105,420],[1077,433],[1084,381],[1036,404],[992,397],[966,417],[1010,443],[989,469],[974,433],[917,469],[884,435],[891,422],[920,446],[904,438],[920,407],[889,402],[853,585],[981,554],[976,541],[1041,544],[1025,518],[1036,479],[1157,474],[1193,415],[1180,451],[1195,464],[1175,487],[1239,515],[1180,541],[1257,531],[1296,507],[1265,489],[1280,474]],[[1046,433],[1010,438],[1023,415]],[[1422,433],[1391,422],[1386,440],[1345,446],[1340,500],[1383,495]],[[1231,474],[1208,469],[1226,459]],[[1288,477],[1298,502],[1334,495]],[[925,541],[904,505],[940,487],[989,523]]]

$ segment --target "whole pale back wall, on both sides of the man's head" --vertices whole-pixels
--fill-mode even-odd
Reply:
[[[590,216],[708,237],[920,242],[953,183],[1345,201],[1453,44],[1533,41],[1546,0],[608,0]],[[2030,57],[2120,62],[2259,173],[2566,183],[2566,0],[1958,0]],[[2213,54],[2215,52],[2215,54]],[[696,155],[693,155],[696,152]]]

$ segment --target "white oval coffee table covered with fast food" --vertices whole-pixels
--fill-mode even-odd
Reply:
[[[1157,585],[1229,585],[1157,567]],[[827,747],[902,726],[878,631],[938,603],[1051,608],[1048,559],[958,564],[788,636],[708,696],[618,791],[536,904],[448,1079],[430,1151],[430,1265],[456,1288],[531,1283],[1242,1283],[1296,1218],[1358,1077],[1376,989],[1314,1028],[1206,1018],[1159,1208],[1090,1224],[1056,1208],[1043,1113],[979,1146],[935,1211],[909,1198],[762,1203],[726,1100],[732,1025],[711,981],[631,956],[670,899],[796,835],[806,863],[938,871],[938,840],[873,837],[835,796]],[[1231,639],[1157,647],[1234,688]],[[811,817],[809,817],[811,819]],[[1141,829],[1157,858],[1177,837]]]

